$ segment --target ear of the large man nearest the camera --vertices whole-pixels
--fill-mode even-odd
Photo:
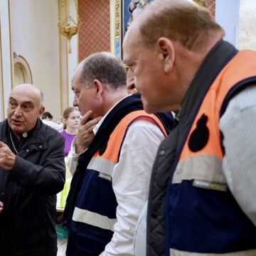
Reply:
[[[163,65],[164,73],[168,73],[174,65],[174,44],[169,38],[161,37],[157,41],[159,59]]]

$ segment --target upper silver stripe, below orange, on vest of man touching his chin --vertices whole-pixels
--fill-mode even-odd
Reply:
[[[92,157],[92,160],[88,164],[87,169],[99,171],[103,174],[110,175],[112,177],[114,163],[110,160],[103,159],[100,157]]]

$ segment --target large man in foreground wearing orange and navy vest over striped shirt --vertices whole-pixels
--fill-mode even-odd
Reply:
[[[152,1],[125,35],[144,110],[179,119],[154,161],[147,256],[256,255],[256,53],[223,36],[188,0]]]

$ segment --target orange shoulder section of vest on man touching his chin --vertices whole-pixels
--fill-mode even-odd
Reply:
[[[127,114],[120,122],[117,124],[117,127],[114,128],[112,134],[110,134],[110,139],[107,142],[107,149],[104,154],[100,156],[100,150],[98,150],[94,157],[101,157],[112,161],[113,163],[117,163],[119,149],[122,146],[122,142],[124,140],[125,133],[127,132],[127,127],[134,121],[137,120],[145,120],[147,122],[151,122],[155,124],[161,132],[166,136],[166,130],[164,125],[161,123],[160,119],[156,117],[154,114],[147,114],[144,110],[137,110]]]

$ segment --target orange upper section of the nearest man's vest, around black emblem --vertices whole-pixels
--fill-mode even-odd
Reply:
[[[223,151],[220,144],[220,131],[218,128],[220,119],[220,108],[223,105],[229,90],[238,82],[247,78],[256,76],[256,53],[251,50],[241,50],[235,57],[230,60],[228,65],[223,68],[217,76],[213,85],[210,86],[202,105],[196,114],[191,131],[186,138],[186,143],[181,152],[180,161],[186,157],[196,155],[214,155],[223,159]],[[188,140],[191,133],[196,129],[198,119],[203,114],[208,116],[207,127],[209,129],[209,139],[206,146],[200,151],[193,152],[188,147]],[[209,118],[210,117],[210,118]]]

